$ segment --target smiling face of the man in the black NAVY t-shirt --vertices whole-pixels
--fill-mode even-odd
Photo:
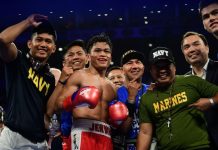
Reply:
[[[53,35],[47,33],[34,34],[27,45],[32,57],[39,61],[46,61],[56,50]]]

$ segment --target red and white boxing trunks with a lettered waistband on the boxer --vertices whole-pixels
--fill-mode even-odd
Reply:
[[[71,144],[72,150],[112,150],[110,125],[90,119],[74,120]]]

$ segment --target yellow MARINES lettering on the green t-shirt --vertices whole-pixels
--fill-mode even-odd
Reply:
[[[186,92],[181,92],[172,96],[171,100],[169,97],[162,101],[153,103],[153,108],[155,113],[159,113],[184,102],[187,102],[187,95]]]

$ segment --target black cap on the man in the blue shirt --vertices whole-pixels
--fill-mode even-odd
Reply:
[[[137,52],[135,50],[128,50],[122,55],[121,66],[123,66],[125,63],[127,63],[131,59],[138,59],[144,64],[145,57],[144,57],[144,54],[141,52]]]

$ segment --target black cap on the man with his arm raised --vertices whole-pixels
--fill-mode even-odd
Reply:
[[[54,36],[55,41],[57,40],[57,34],[53,26],[48,20],[43,20],[41,24],[39,24],[37,27],[33,28],[32,33],[48,33]]]

